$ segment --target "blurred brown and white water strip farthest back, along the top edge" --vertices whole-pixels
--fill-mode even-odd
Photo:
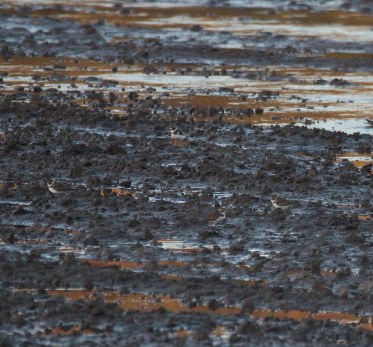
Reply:
[[[10,8],[14,4],[28,3],[28,0],[4,1]],[[44,0],[43,3],[50,1]],[[41,17],[44,15],[56,18],[73,19],[82,24],[94,24],[98,19],[105,19],[107,24],[112,25],[112,30],[102,31],[101,35],[107,40],[117,40],[116,35],[120,31],[118,27],[147,28],[151,30],[163,30],[165,38],[175,37],[174,40],[188,41],[191,38],[206,37],[208,32],[213,32],[220,38],[210,38],[215,46],[225,49],[241,48],[242,44],[253,44],[251,40],[260,32],[270,32],[271,34],[291,35],[299,38],[322,38],[345,42],[366,42],[371,36],[369,28],[371,18],[369,14],[346,12],[339,10],[325,11],[327,6],[322,7],[322,11],[297,11],[278,10],[269,13],[263,6],[273,6],[273,4],[257,1],[257,7],[250,1],[247,5],[242,1],[230,4],[230,7],[208,7],[198,6],[199,2],[184,1],[172,6],[169,2],[152,1],[151,6],[146,2],[123,3],[120,8],[113,6],[115,1],[69,1],[69,7],[61,7],[61,10],[53,12],[43,9],[30,11],[29,15]],[[34,4],[34,3],[32,3]],[[316,3],[312,3],[317,7]],[[125,15],[123,15],[123,11]],[[9,9],[8,13],[12,13]],[[203,31],[193,32],[183,30],[192,25],[203,26]],[[37,30],[37,28],[35,29]],[[172,34],[170,33],[172,31]],[[118,34],[116,34],[118,32]],[[219,35],[222,32],[224,35]],[[120,37],[120,36],[119,36]],[[241,40],[238,40],[240,38]],[[281,40],[275,47],[281,47]],[[257,44],[260,44],[257,43]],[[310,54],[310,53],[308,53]]]

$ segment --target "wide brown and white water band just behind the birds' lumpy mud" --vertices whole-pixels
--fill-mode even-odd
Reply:
[[[53,64],[63,64],[66,70],[63,75],[68,79],[65,81],[54,81],[51,76],[55,71],[49,71],[46,67]],[[26,90],[37,84],[43,84],[43,90],[56,88],[64,93],[70,90],[80,92],[73,93],[76,103],[88,105],[89,100],[85,98],[87,87],[90,90],[103,92],[103,100],[109,102],[109,93],[117,97],[115,104],[108,103],[107,108],[125,115],[123,105],[128,102],[129,91],[136,91],[140,97],[149,96],[148,87],[155,89],[153,97],[161,97],[164,103],[169,106],[178,107],[182,104],[192,105],[214,105],[215,107],[256,109],[261,107],[264,114],[253,115],[252,117],[237,117],[234,112],[228,110],[223,114],[223,120],[236,124],[253,123],[268,126],[270,124],[295,124],[308,127],[326,128],[327,130],[341,130],[347,133],[359,131],[360,133],[372,132],[372,127],[365,121],[373,113],[371,95],[373,92],[373,77],[367,72],[336,72],[323,69],[269,66],[257,67],[216,66],[214,70],[227,71],[226,75],[213,75],[209,78],[199,74],[199,71],[206,67],[197,66],[189,74],[179,74],[175,69],[178,64],[162,63],[161,70],[165,74],[147,75],[142,69],[144,65],[135,64],[131,67],[119,66],[118,71],[111,71],[112,65],[97,61],[81,59],[76,63],[71,58],[41,58],[41,57],[13,57],[9,61],[0,59],[0,71],[6,70],[8,76],[4,77],[4,84],[0,85],[0,93],[14,93],[15,88],[23,87]],[[179,66],[183,66],[179,64]],[[208,67],[211,69],[210,67]],[[232,78],[233,75],[245,76],[257,74],[260,71],[274,71],[277,76],[288,77],[279,80]],[[264,69],[264,70],[263,70]],[[269,72],[267,72],[269,74]],[[40,75],[42,81],[32,80],[32,74]],[[73,78],[73,81],[71,80]],[[91,83],[91,78],[96,78]],[[322,78],[325,81],[332,81],[335,78],[343,78],[350,83],[344,87],[326,84],[314,84]],[[118,84],[105,84],[105,80],[115,80]],[[284,87],[284,82],[286,87]],[[72,83],[74,87],[72,88]],[[123,92],[122,88],[126,89]],[[231,88],[233,93],[221,93],[220,87]],[[258,93],[262,90],[270,90],[279,93],[275,98],[266,101],[257,101]],[[164,92],[167,94],[164,94]],[[191,94],[191,92],[193,92]],[[244,95],[244,99],[239,96]],[[352,102],[353,101],[353,102]],[[203,120],[208,120],[204,118]],[[195,120],[198,121],[197,118]],[[306,121],[307,120],[307,121]],[[184,145],[184,143],[182,143]]]

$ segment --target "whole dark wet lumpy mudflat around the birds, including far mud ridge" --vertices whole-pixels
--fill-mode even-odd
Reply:
[[[144,74],[160,73],[151,63],[166,56],[334,62],[299,57],[301,47],[248,55],[189,43],[180,50],[144,31],[142,44],[109,44],[105,30],[134,29],[33,18],[33,11],[1,13],[5,24],[19,21],[18,29],[0,29],[4,60],[142,62]],[[31,22],[40,27],[33,34]],[[186,31],[206,34],[199,25]],[[223,116],[265,110],[169,106],[153,90],[127,91],[119,116],[110,110],[117,96],[98,87],[116,81],[92,78],[96,87],[71,93],[59,90],[62,80],[69,77],[0,95],[1,346],[370,345],[372,165],[359,170],[337,160],[342,149],[370,153],[370,135],[237,125]],[[262,90],[257,101],[277,96]],[[187,137],[170,140],[170,126]],[[49,180],[74,191],[53,194]],[[298,205],[275,210],[274,194]],[[217,227],[201,221],[220,206],[226,219]]]

